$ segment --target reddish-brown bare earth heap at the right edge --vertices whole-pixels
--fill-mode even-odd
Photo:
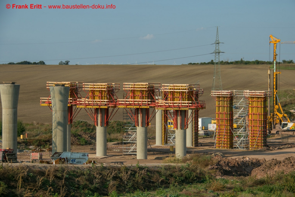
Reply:
[[[263,165],[254,169],[251,176],[256,178],[261,178],[265,176],[272,176],[277,172],[282,172],[287,174],[295,170],[295,157],[287,157],[283,161],[277,159],[271,159],[264,162]]]

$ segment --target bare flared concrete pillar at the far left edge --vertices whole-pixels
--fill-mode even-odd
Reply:
[[[0,85],[2,102],[2,148],[10,148],[13,149],[14,153],[17,153],[17,104],[20,85],[15,85],[14,83]]]

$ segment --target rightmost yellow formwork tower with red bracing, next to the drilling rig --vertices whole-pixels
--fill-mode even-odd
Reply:
[[[249,148],[261,149],[266,147],[267,136],[267,105],[271,91],[244,91],[249,103]]]

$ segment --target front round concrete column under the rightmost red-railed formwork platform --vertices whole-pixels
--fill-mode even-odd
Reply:
[[[181,113],[181,117],[179,113]],[[177,113],[178,123],[177,129],[175,129],[175,156],[182,158],[186,156],[186,129],[184,129],[186,110],[179,110],[179,113]]]

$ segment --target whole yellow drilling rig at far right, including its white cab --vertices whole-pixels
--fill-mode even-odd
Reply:
[[[277,43],[281,42],[280,39],[274,37],[273,35],[269,36],[269,44],[273,43],[273,69],[268,69],[268,90],[272,91],[273,95],[273,103],[271,103],[271,100],[268,100],[268,118],[267,118],[267,129],[269,133],[273,128],[276,128],[276,125],[280,122],[282,123],[281,128],[284,131],[292,131],[294,129],[294,126],[292,127],[291,124],[294,125],[294,123],[290,123],[289,117],[287,114],[284,114],[284,111],[282,109],[282,106],[280,104],[280,101],[278,99],[278,74],[281,74],[281,72],[277,72],[276,70],[276,48]],[[273,74],[273,80],[272,75]],[[273,108],[273,112],[271,113],[271,108]],[[278,112],[278,108],[280,108],[281,113]],[[284,121],[284,120],[285,121]],[[291,126],[291,129],[288,130],[287,128]],[[284,127],[284,128],[283,128]],[[294,131],[294,130],[293,130]]]

